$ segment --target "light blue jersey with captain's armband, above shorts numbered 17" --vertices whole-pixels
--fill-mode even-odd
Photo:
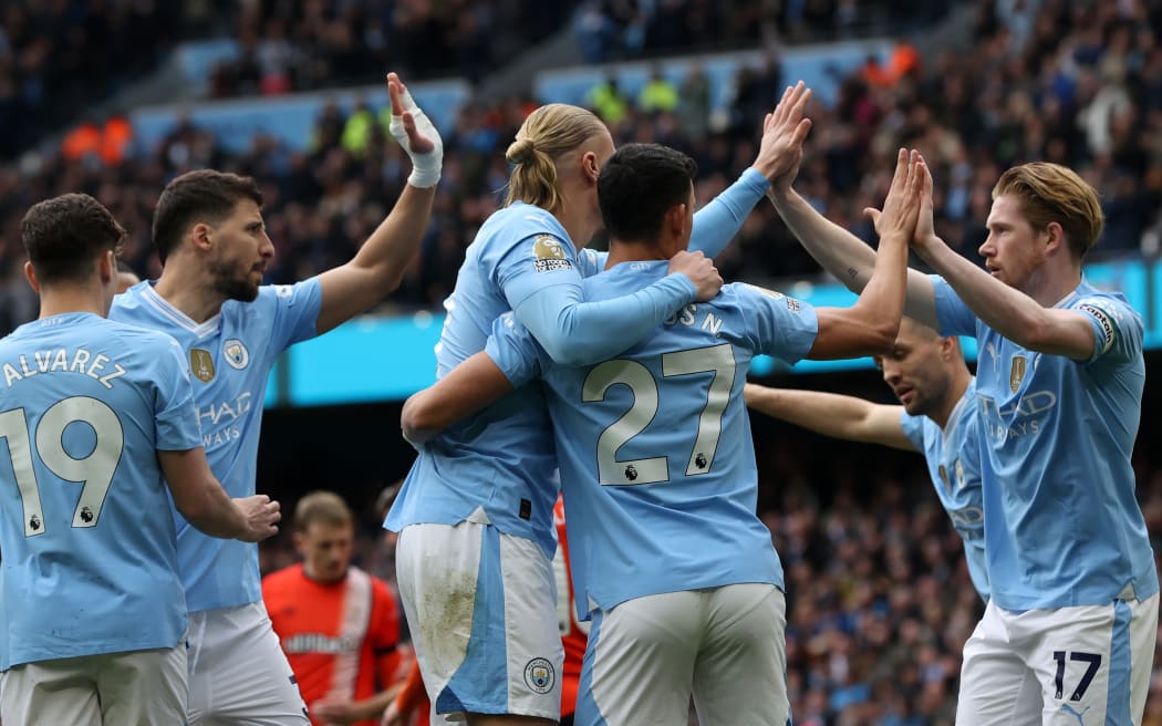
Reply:
[[[1129,466],[1141,417],[1142,319],[1082,282],[1057,308],[1093,326],[1089,360],[1023,348],[934,278],[944,335],[975,335],[984,537],[1006,610],[1104,605],[1159,591]]]

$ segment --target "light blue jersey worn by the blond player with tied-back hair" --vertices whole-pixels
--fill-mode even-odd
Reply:
[[[748,170],[695,215],[694,235],[708,254],[722,250],[761,199],[767,180]],[[691,245],[694,246],[694,245]],[[588,301],[581,278],[604,266],[605,254],[579,256],[560,222],[539,207],[515,203],[493,214],[468,246],[436,348],[437,378],[485,348],[493,322],[515,310],[541,340],[588,360],[616,354],[694,300],[684,275],[617,301]],[[537,304],[523,304],[537,295]],[[547,295],[547,299],[544,297]],[[587,306],[571,328],[567,308]],[[553,504],[558,486],[552,429],[539,386],[521,387],[422,447],[383,526],[457,524],[475,512],[500,531],[555,549]]]

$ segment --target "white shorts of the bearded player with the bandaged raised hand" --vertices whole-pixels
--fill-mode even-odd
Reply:
[[[307,726],[307,706],[261,603],[189,616],[189,726]]]

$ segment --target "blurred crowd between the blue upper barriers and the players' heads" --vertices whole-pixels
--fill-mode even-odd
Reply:
[[[261,7],[267,5],[295,3]],[[307,7],[315,5],[327,3]],[[654,8],[660,13],[667,5]],[[270,19],[279,14],[263,10],[261,17],[274,22]],[[258,28],[270,22],[254,21]],[[890,63],[869,59],[844,78],[835,103],[815,103],[796,187],[830,218],[871,242],[861,210],[882,202],[895,150],[916,146],[935,172],[939,231],[977,259],[1000,171],[1030,159],[1061,161],[1102,194],[1106,229],[1095,257],[1155,254],[1162,199],[1160,30],[1156,2],[982,1],[970,57],[945,51],[924,58],[901,41]],[[677,84],[658,78],[640,98],[622,98],[616,86],[600,84],[589,99],[618,142],[654,141],[690,153],[700,166],[697,197],[705,202],[749,164],[763,114],[795,80],[783,76],[772,51],[762,64],[740,70],[727,114],[712,113],[697,66]],[[533,107],[533,99],[516,95],[461,109],[446,135],[444,177],[423,252],[390,303],[436,307],[451,290],[464,249],[503,193],[504,150]],[[261,181],[278,249],[270,281],[301,279],[347,260],[390,208],[408,172],[383,122],[382,108],[345,114],[330,106],[317,118],[310,149],[256,137],[238,154],[225,153],[211,132],[187,122],[141,158],[63,144],[59,153],[0,167],[0,331],[34,312],[20,273],[20,217],[36,200],[65,191],[88,192],[109,206],[131,233],[125,259],[143,276],[158,271],[149,242],[158,192],[173,175],[202,166]],[[819,272],[765,207],[718,264],[729,279]]]

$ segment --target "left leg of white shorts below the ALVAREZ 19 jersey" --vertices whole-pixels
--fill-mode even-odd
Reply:
[[[101,704],[89,657],[24,663],[0,674],[0,721],[101,726]]]

